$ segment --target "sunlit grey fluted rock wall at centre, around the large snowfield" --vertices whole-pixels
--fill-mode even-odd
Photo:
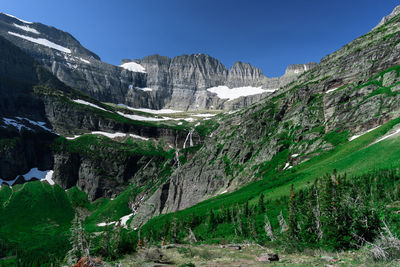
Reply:
[[[204,54],[172,59],[153,55],[137,62],[146,69],[146,87],[152,89],[148,95],[157,99],[156,106],[180,110],[231,110],[248,106],[315,66],[312,63],[289,66],[282,77],[267,78],[259,68],[249,63],[236,62],[228,70],[217,59]],[[207,90],[218,86],[230,89],[258,87],[266,91],[247,96],[245,91],[248,89],[243,88],[242,97],[229,100]]]

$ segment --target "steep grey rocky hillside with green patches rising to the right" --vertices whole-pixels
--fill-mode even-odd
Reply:
[[[134,224],[263,177],[272,179],[397,118],[399,21],[394,16],[261,102],[216,117],[220,127],[140,208]]]

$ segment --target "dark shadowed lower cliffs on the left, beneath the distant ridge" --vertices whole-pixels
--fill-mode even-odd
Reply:
[[[93,108],[74,99],[102,105],[0,37],[0,183],[14,183],[16,177],[23,183],[21,175],[33,168],[54,170],[53,180],[64,189],[78,186],[91,200],[112,197],[128,184],[157,183],[175,162],[164,149],[182,147],[188,136],[184,127],[131,121],[109,106]],[[92,131],[126,136],[117,142],[87,135],[78,145],[59,137]],[[124,142],[130,135],[139,136],[134,145]],[[194,145],[201,139],[192,134]]]

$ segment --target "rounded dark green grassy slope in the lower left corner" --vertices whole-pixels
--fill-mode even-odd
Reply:
[[[30,182],[0,189],[0,240],[31,262],[63,257],[69,249],[73,207],[66,192],[46,182]]]

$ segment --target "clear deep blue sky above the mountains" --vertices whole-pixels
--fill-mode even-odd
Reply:
[[[395,0],[3,0],[0,11],[71,33],[103,61],[205,53],[280,76],[368,32]]]

